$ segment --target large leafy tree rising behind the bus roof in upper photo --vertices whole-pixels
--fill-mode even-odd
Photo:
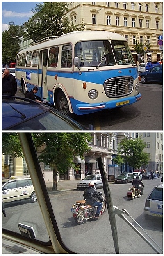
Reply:
[[[32,10],[34,15],[25,22],[24,39],[34,42],[48,36],[60,36],[71,31],[84,30],[84,24],[73,25],[66,16],[67,2],[44,2]]]

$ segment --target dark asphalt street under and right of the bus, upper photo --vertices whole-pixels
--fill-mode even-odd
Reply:
[[[139,102],[111,111],[75,116],[75,120],[85,127],[94,125],[95,130],[162,130],[163,105],[162,84],[141,84],[142,98]],[[16,96],[23,97],[18,87]]]

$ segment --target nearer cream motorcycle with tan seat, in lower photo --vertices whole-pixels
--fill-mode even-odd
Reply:
[[[105,212],[106,209],[106,200],[101,195],[101,192],[99,192],[100,197],[97,199],[97,201],[102,202],[102,209],[100,211],[100,214],[102,215]],[[75,219],[75,222],[77,225],[80,225],[84,222],[84,220],[89,220],[94,218],[96,215],[98,206],[91,206],[86,204],[86,200],[80,200],[76,201],[76,203],[72,206],[71,212],[73,213],[73,218]]]

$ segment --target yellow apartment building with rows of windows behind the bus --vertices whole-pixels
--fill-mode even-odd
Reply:
[[[145,61],[160,61],[163,34],[163,2],[68,2],[68,17],[85,30],[105,30],[124,36],[137,63],[134,42],[150,43]]]

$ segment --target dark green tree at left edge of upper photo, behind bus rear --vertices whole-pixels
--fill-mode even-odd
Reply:
[[[2,63],[15,62],[16,54],[20,49],[20,37],[23,36],[23,27],[9,22],[9,29],[2,32]]]

